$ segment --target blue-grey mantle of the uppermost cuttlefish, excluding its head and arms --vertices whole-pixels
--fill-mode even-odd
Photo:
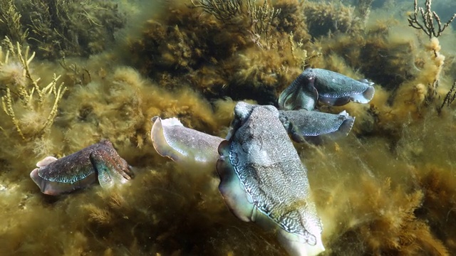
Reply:
[[[351,101],[368,103],[375,93],[373,82],[366,79],[354,80],[331,70],[308,68],[301,75],[315,76],[314,86],[318,91],[318,100],[328,105],[341,106]]]

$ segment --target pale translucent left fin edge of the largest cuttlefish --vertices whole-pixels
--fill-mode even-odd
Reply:
[[[249,222],[254,218],[254,204],[239,180],[234,166],[229,162],[230,143],[224,140],[219,145],[220,158],[217,161],[217,173],[220,176],[219,191],[229,210],[240,220]]]

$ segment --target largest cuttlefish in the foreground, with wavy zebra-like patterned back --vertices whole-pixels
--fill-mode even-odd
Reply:
[[[244,221],[274,229],[291,255],[323,252],[322,224],[311,201],[307,170],[273,106],[238,102],[227,140],[219,145],[219,191]]]

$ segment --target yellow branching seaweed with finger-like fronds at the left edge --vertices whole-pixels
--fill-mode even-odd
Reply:
[[[4,60],[0,60],[1,89],[4,90],[2,108],[22,139],[41,137],[53,124],[66,87],[63,83],[58,85],[60,76],[56,74],[48,85],[38,85],[40,78],[33,78],[29,68],[35,53],[29,55],[28,47],[22,53],[21,45],[17,43],[14,47],[9,38],[4,42],[9,50],[0,53],[0,57],[4,56]],[[18,110],[22,113],[16,114]]]

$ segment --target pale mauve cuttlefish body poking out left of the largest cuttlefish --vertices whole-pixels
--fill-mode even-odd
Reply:
[[[184,127],[175,117],[153,117],[152,122],[150,137],[158,154],[180,163],[215,166],[222,138]]]

